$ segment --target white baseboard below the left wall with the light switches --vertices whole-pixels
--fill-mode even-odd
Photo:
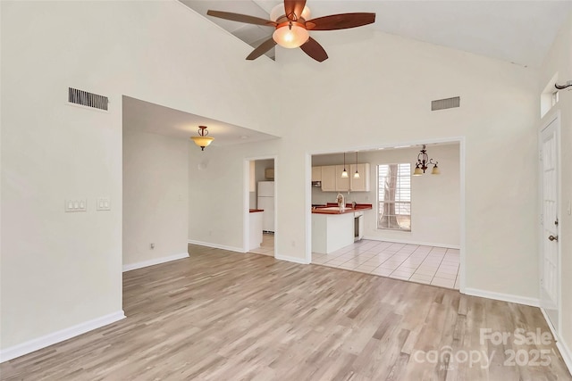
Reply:
[[[14,345],[13,347],[0,351],[0,362],[12,360],[16,357],[23,356],[24,354],[38,351],[39,349],[63,342],[64,340],[71,339],[71,337],[85,334],[88,331],[92,331],[99,327],[104,327],[124,318],[125,313],[123,311],[117,311],[109,315],[102,316],[101,318],[89,320],[76,326],[65,328],[61,331],[44,335],[22,344]]]

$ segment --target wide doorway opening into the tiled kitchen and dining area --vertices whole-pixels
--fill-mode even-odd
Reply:
[[[441,173],[433,175],[429,169],[422,176],[413,177],[417,155],[423,145],[426,145],[433,162],[439,162]],[[311,178],[307,205],[311,211],[307,218],[307,234],[311,243],[307,245],[307,261],[427,285],[465,288],[463,138],[373,148],[350,147],[346,151],[345,163],[341,152],[313,153],[308,155],[308,159],[311,168],[307,172],[308,175],[311,173]],[[387,169],[391,165],[399,169],[400,163],[407,163],[410,168],[405,182],[407,189],[388,188],[385,184]],[[343,187],[343,180],[338,181],[344,166],[350,175],[359,171],[356,190],[351,187],[348,190]],[[325,174],[325,178],[320,178],[320,174]],[[332,175],[333,180],[330,178]],[[341,247],[334,245],[331,248],[327,245],[332,241],[328,238],[328,230],[320,231],[324,224],[320,224],[319,219],[324,218],[317,216],[319,212],[316,213],[315,208],[330,209],[339,194],[344,196],[346,208],[350,211],[351,205],[364,205],[368,209],[359,211],[363,213],[359,220],[363,234],[357,235],[361,239],[350,242],[348,238],[346,245],[338,244]],[[389,203],[395,203],[394,208],[389,208],[388,200],[383,198],[388,194],[400,196],[399,200],[389,200]],[[397,206],[400,213],[397,213]],[[395,214],[396,219],[407,217],[407,228],[395,228],[384,223],[388,219],[387,211],[396,211],[390,213]],[[333,219],[337,216],[328,218],[332,221],[327,222],[334,224],[336,221]],[[327,222],[326,226],[332,225]],[[351,235],[355,237],[355,222],[349,228],[353,229]]]

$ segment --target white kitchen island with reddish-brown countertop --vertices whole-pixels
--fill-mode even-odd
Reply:
[[[363,231],[363,211],[371,204],[357,204],[340,209],[328,203],[312,208],[312,253],[329,254],[360,239]]]

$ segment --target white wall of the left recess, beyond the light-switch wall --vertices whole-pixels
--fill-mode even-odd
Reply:
[[[123,127],[123,267],[187,254],[189,142]]]

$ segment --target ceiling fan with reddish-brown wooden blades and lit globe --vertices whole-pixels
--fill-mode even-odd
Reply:
[[[288,48],[300,47],[315,61],[323,62],[328,58],[328,54],[314,38],[310,37],[309,30],[349,29],[371,24],[375,21],[375,13],[366,12],[331,14],[308,20],[310,10],[306,6],[306,0],[284,0],[283,6],[278,4],[270,12],[271,20],[249,16],[248,14],[212,10],[206,14],[224,20],[265,25],[275,29],[272,37],[260,44],[251,54],[248,54],[247,60],[257,59],[278,44]]]

